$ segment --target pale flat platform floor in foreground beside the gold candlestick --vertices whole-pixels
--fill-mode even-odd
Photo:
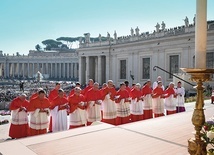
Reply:
[[[210,118],[213,105],[207,105]],[[0,143],[3,155],[187,155],[192,110],[121,126],[101,123]]]

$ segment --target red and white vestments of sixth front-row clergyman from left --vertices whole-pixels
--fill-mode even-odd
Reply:
[[[115,101],[115,96],[117,94],[115,88],[114,87],[112,87],[112,88],[109,88],[109,87],[103,88],[102,89],[102,100],[105,99],[107,94],[110,95],[110,100],[111,100],[110,104],[115,104],[115,103],[112,103],[112,102]],[[116,105],[113,105],[113,107],[110,108],[113,111],[105,111],[105,110],[108,109],[109,106],[112,106],[112,105],[108,105],[108,104],[109,104],[109,102],[103,101],[103,119],[102,119],[102,122],[105,122],[105,123],[108,123],[108,124],[112,124],[112,125],[116,125],[116,118],[117,118]],[[112,115],[111,117],[113,117],[113,118],[106,119],[105,116],[106,116],[107,113],[108,113],[108,115]]]

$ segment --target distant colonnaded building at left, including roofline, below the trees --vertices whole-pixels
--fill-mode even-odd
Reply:
[[[40,72],[44,79],[78,80],[76,51],[29,51],[28,55],[6,55],[0,52],[0,77],[32,79]]]

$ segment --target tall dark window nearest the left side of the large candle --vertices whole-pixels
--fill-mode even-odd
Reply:
[[[169,72],[174,74],[179,71],[179,56],[171,55],[169,56]],[[172,75],[169,75],[169,78],[172,78]]]

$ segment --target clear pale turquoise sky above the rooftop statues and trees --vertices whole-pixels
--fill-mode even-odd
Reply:
[[[207,0],[207,19],[214,20],[214,0]],[[130,35],[131,27],[153,32],[190,24],[196,0],[0,0],[0,50],[28,54],[36,44],[58,37]]]

